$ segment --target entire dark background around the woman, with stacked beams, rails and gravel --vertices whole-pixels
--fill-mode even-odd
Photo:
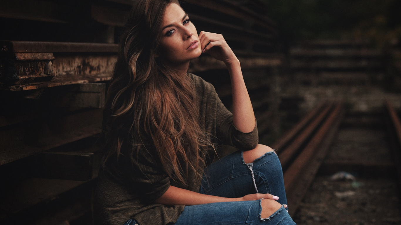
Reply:
[[[135,1],[0,2],[0,224],[93,224],[102,108]],[[239,58],[298,224],[401,224],[400,1],[181,6]],[[205,54],[189,72],[231,108],[224,63]]]

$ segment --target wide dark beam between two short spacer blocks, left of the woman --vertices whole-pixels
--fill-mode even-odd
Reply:
[[[30,123],[0,130],[0,165],[101,133],[102,112],[96,109],[66,117],[48,116],[40,126]]]

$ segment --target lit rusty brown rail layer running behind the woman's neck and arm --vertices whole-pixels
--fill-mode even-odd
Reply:
[[[0,89],[35,90],[69,84],[107,81],[117,60],[117,44],[0,41]],[[241,66],[278,66],[281,56],[239,57]],[[190,72],[225,69],[211,56],[193,60]]]

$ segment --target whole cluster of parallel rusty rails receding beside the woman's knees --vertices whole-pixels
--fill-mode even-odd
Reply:
[[[312,183],[343,117],[342,103],[322,104],[313,109],[273,148],[282,162],[290,215]]]

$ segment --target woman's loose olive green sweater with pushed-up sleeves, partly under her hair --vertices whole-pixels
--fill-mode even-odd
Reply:
[[[212,84],[189,74],[194,81],[200,108],[201,126],[213,143],[232,145],[242,150],[256,147],[257,128],[242,133],[233,125],[231,112],[225,108]],[[202,149],[205,161],[210,164],[215,157],[213,149]],[[219,149],[216,149],[219,153]],[[200,183],[194,173],[189,175],[188,187],[170,179],[163,170],[152,146],[139,151],[132,162],[130,155],[109,159],[99,173],[95,192],[95,224],[123,225],[130,218],[139,225],[166,225],[176,222],[184,205],[166,206],[153,203],[170,185],[198,192]]]

